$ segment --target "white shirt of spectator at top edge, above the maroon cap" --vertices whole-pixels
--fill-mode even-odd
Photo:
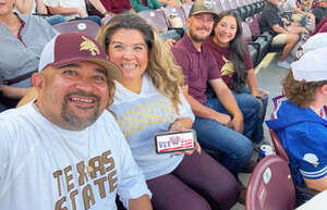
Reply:
[[[47,7],[62,7],[62,8],[80,8],[86,12],[86,4],[84,0],[44,0]],[[65,18],[72,20],[78,17],[78,14],[64,15]]]

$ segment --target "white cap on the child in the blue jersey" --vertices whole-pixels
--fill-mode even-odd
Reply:
[[[327,47],[305,52],[291,64],[295,81],[327,81]]]

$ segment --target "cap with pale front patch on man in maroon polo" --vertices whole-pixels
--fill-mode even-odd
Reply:
[[[216,2],[214,2],[213,0],[195,0],[191,8],[189,16],[193,16],[199,13],[211,13],[217,16],[218,13],[216,9]]]

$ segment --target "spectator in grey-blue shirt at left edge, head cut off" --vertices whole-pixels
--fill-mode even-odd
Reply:
[[[44,46],[58,34],[41,17],[14,13],[13,8],[14,0],[0,4],[0,111],[26,95]]]

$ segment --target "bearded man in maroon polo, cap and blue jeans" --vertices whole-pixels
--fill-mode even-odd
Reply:
[[[172,52],[185,75],[183,89],[196,115],[193,127],[199,144],[222,153],[222,164],[237,174],[252,156],[253,146],[247,137],[252,136],[258,118],[255,113],[261,108],[242,109],[242,104],[239,108],[220,77],[215,57],[202,45],[213,29],[216,15],[210,0],[195,1],[187,18],[189,30],[172,47]],[[207,83],[213,92],[205,94]]]

